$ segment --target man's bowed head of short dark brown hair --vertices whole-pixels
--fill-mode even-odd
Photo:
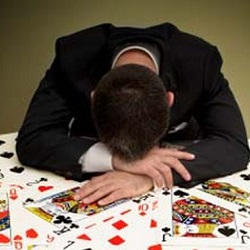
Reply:
[[[112,154],[126,161],[139,159],[167,130],[166,89],[145,66],[116,67],[98,83],[92,114],[100,140]]]

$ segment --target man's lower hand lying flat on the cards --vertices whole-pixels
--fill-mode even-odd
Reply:
[[[152,187],[153,182],[148,176],[115,170],[93,177],[78,190],[74,198],[86,204],[98,201],[99,205],[106,205],[141,195]]]

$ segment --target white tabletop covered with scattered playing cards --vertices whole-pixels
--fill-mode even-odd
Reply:
[[[78,182],[22,166],[15,138],[0,136],[0,249],[249,249],[249,169],[189,190],[85,206],[68,195]]]

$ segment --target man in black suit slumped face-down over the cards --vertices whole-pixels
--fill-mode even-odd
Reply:
[[[19,159],[95,176],[75,199],[101,205],[242,170],[247,137],[221,65],[216,47],[169,23],[60,38],[19,131]]]

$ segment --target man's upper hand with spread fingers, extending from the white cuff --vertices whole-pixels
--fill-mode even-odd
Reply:
[[[113,156],[113,167],[129,173],[143,174],[151,177],[157,187],[171,188],[173,186],[172,170],[184,180],[191,176],[180,160],[193,160],[193,154],[171,148],[154,147],[142,159],[126,162]]]

